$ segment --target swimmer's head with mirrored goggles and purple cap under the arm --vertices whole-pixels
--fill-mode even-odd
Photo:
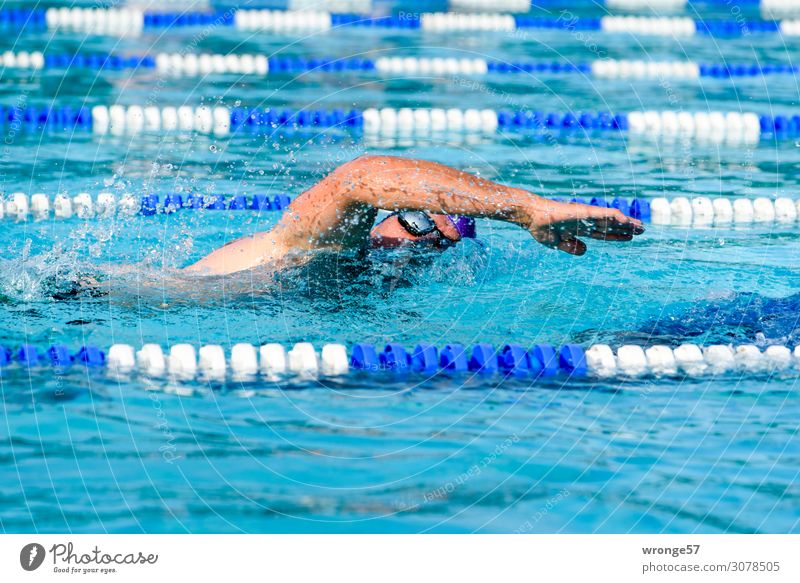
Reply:
[[[425,211],[392,213],[370,232],[373,247],[429,245],[449,247],[462,238],[475,237],[475,221],[470,217],[436,215]]]

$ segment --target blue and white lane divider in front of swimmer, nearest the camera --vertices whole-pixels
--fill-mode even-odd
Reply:
[[[82,346],[71,351],[64,345],[40,349],[23,345],[11,350],[0,346],[0,374],[10,367],[68,367],[85,365],[105,369],[112,375],[138,373],[146,377],[173,380],[268,380],[340,376],[351,371],[375,374],[503,375],[519,378],[635,378],[642,376],[703,377],[726,373],[800,372],[800,347],[755,345],[683,344],[675,349],[656,345],[643,348],[625,345],[616,353],[605,344],[584,349],[577,344],[560,348],[550,344],[495,347],[447,344],[441,349],[419,343],[413,348],[388,343],[384,346],[325,344],[321,351],[308,342],[286,350],[281,344],[253,346],[240,343],[226,355],[220,345],[176,344],[164,351],[158,344],[139,350],[128,344],[114,344],[107,350]]]

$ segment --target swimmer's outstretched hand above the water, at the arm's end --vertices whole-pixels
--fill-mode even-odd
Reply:
[[[642,222],[617,209],[539,198],[528,213],[528,230],[542,245],[571,255],[586,253],[578,237],[601,241],[630,241],[644,233]]]

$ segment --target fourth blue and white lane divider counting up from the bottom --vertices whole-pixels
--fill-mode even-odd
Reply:
[[[281,75],[305,72],[370,72],[382,75],[487,75],[487,74],[582,74],[608,79],[699,79],[795,75],[800,66],[761,63],[696,63],[693,61],[644,61],[598,59],[589,62],[493,61],[479,58],[380,57],[298,58],[257,54],[158,53],[156,55],[43,55],[40,52],[6,51],[3,67],[30,70],[119,71],[140,69],[166,75],[195,77],[210,74]]]

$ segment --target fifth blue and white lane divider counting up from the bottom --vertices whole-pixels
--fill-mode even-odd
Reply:
[[[0,10],[0,27],[77,30],[95,34],[130,35],[143,30],[210,26],[244,31],[308,34],[341,27],[422,29],[431,32],[512,32],[522,29],[596,30],[685,37],[739,36],[754,33],[800,34],[800,20],[694,20],[688,17],[604,16],[602,18],[538,17],[458,12],[405,12],[391,16],[336,14],[315,11],[238,10],[228,12],[145,12],[135,8],[49,8]]]

